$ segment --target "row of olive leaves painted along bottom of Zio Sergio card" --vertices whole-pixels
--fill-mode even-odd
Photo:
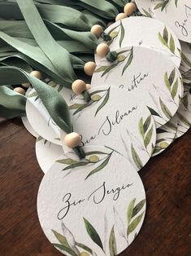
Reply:
[[[127,224],[124,225],[123,220],[120,218],[119,214],[114,208],[114,214],[115,214],[115,223],[111,227],[110,232],[108,232],[109,235],[109,241],[107,243],[107,246],[109,247],[110,256],[116,256],[117,253],[117,242],[116,242],[116,236],[115,236],[115,229],[117,232],[119,232],[120,236],[123,236],[125,240],[128,243],[128,236],[132,234],[132,232],[135,232],[134,238],[137,236],[136,229],[138,225],[141,223],[141,220],[145,214],[145,211],[143,211],[141,214],[141,210],[145,206],[145,199],[137,203],[135,205],[136,198],[134,198],[130,203],[128,204],[128,210],[127,210]],[[108,218],[108,217],[107,217]],[[83,218],[84,224],[85,224],[85,231],[89,235],[89,238],[93,241],[95,245],[98,245],[100,249],[102,249],[103,254],[106,255],[106,248],[104,248],[103,241],[101,239],[101,236],[99,236],[98,231],[95,227],[93,227],[93,224],[89,222],[88,219]],[[97,256],[97,254],[93,251],[93,249],[90,249],[89,246],[76,241],[75,236],[73,236],[72,232],[66,227],[64,223],[61,224],[63,234],[60,234],[59,232],[51,230],[57,239],[59,241],[58,243],[53,243],[55,248],[60,249],[64,253],[67,253],[72,256]],[[126,229],[126,231],[125,231]],[[105,232],[107,232],[105,230]],[[107,234],[106,234],[107,235]],[[80,252],[80,250],[83,250]]]

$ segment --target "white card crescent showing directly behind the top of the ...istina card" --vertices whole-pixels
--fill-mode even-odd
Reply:
[[[112,41],[110,50],[116,51],[127,46],[148,46],[170,57],[180,66],[180,42],[176,34],[159,20],[147,17],[129,17],[119,20],[105,30]]]

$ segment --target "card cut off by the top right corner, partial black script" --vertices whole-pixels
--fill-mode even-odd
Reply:
[[[154,1],[156,19],[163,21],[184,42],[191,42],[191,2],[190,0]]]

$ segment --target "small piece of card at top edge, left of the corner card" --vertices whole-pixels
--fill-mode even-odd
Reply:
[[[154,18],[154,0],[136,0],[137,8],[141,12],[142,15],[145,15],[149,18]]]

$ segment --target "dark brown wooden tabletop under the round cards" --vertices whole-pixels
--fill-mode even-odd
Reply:
[[[191,255],[191,130],[140,171],[147,196],[145,223],[121,256]],[[63,255],[37,218],[43,173],[35,139],[20,119],[0,121],[0,255]]]

